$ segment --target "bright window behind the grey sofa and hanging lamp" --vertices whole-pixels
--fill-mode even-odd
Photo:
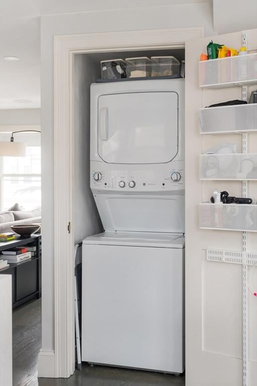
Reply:
[[[1,211],[15,203],[24,210],[41,206],[41,147],[27,146],[26,157],[1,158]]]

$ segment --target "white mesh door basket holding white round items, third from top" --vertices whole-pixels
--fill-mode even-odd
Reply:
[[[200,179],[257,179],[257,153],[200,154]]]

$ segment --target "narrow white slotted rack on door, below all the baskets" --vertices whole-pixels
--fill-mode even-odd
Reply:
[[[206,259],[218,263],[255,265],[257,264],[257,253],[208,248]]]

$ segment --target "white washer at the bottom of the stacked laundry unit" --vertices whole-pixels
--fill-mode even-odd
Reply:
[[[184,371],[184,245],[135,232],[83,241],[83,361]]]

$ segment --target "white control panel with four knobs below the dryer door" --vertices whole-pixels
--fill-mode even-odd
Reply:
[[[128,193],[185,189],[184,161],[155,165],[127,165],[126,169],[113,166],[91,161],[90,185],[93,190]]]

